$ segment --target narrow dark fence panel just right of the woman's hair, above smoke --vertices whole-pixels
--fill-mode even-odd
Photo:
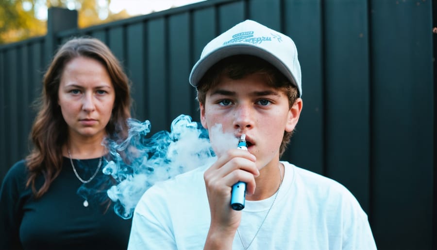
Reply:
[[[147,65],[145,64],[144,56],[147,48],[147,43],[144,39],[144,24],[136,23],[126,28],[126,50],[127,50],[127,65],[126,70],[129,78],[132,81],[132,99],[133,117],[140,121],[147,119]]]

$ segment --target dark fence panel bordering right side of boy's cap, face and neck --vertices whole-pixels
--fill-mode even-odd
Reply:
[[[295,42],[302,69],[303,110],[283,158],[324,174],[321,2],[287,0],[284,13],[284,33]]]

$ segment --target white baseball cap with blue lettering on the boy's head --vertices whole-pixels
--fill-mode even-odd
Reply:
[[[238,54],[266,60],[296,85],[302,96],[301,65],[293,40],[252,20],[238,23],[203,48],[199,61],[191,70],[190,84],[197,87],[209,68],[221,59]]]

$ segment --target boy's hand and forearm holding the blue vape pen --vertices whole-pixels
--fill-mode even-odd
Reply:
[[[255,161],[248,151],[231,149],[205,171],[203,178],[211,212],[205,249],[232,249],[241,220],[241,212],[231,208],[232,186],[243,181],[247,195],[255,192],[255,177],[259,175]]]

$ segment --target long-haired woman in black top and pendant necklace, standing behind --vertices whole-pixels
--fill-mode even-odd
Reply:
[[[94,198],[111,184],[105,138],[125,138],[130,106],[129,79],[104,43],[74,38],[59,49],[43,78],[34,148],[1,185],[0,249],[127,248],[132,221]]]

